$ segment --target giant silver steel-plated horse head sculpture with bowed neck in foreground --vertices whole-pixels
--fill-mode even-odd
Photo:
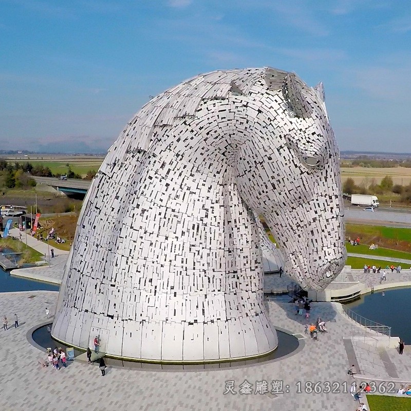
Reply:
[[[215,71],[150,100],[92,181],[65,268],[55,339],[141,361],[259,356],[265,218],[305,288],[345,260],[339,153],[324,104],[281,70]]]

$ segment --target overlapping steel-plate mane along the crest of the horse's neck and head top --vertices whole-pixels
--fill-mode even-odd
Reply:
[[[203,101],[223,100],[230,95],[247,96],[260,82],[267,90],[282,90],[287,76],[311,98],[324,100],[322,83],[315,89],[307,86],[293,73],[276,68],[216,70],[199,74],[163,91],[148,101],[126,124],[116,142],[109,148],[106,163],[124,159],[127,152],[148,151],[155,127],[170,126],[178,119],[194,117]],[[320,88],[317,88],[320,87]]]

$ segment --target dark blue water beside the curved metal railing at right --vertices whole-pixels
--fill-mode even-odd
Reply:
[[[411,288],[379,291],[345,304],[368,320],[391,327],[391,335],[411,345]]]

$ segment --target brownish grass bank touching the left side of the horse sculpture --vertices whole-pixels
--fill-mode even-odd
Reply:
[[[74,239],[74,234],[76,233],[76,225],[78,215],[62,215],[55,217],[40,218],[41,228],[37,230],[38,234],[43,234],[46,238],[47,234],[52,228],[54,228],[55,238],[49,240],[50,247],[57,248],[59,250],[70,250],[70,243]],[[55,242],[57,237],[64,238],[66,242],[58,244]]]

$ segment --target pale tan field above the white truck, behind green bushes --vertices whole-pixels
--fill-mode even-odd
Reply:
[[[381,168],[372,169],[368,167],[342,167],[341,168],[341,178],[343,182],[351,177],[354,182],[358,185],[364,181],[364,178],[371,180],[372,178],[376,180],[379,184],[385,176],[393,177],[394,184],[408,185],[411,183],[411,168],[405,167],[393,167],[393,168]]]

